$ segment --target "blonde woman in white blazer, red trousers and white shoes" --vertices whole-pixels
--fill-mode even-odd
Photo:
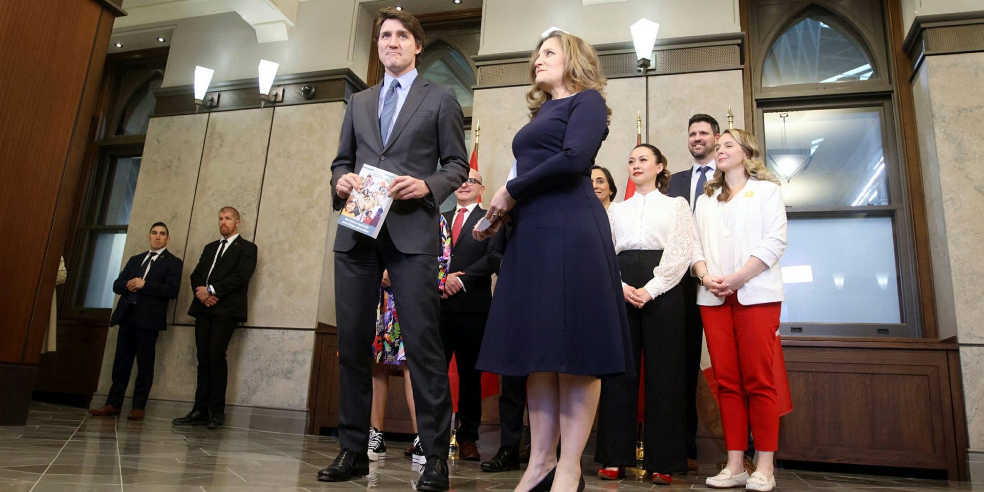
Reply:
[[[775,487],[772,459],[779,439],[772,375],[786,211],[778,180],[762,164],[751,133],[727,130],[717,145],[714,179],[697,199],[692,260],[728,452],[727,467],[707,485],[768,492]],[[751,476],[742,466],[750,425],[758,452]]]

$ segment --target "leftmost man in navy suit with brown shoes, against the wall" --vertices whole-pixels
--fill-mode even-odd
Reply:
[[[120,414],[136,357],[137,383],[133,389],[133,408],[127,418],[144,419],[144,408],[154,383],[157,334],[167,330],[167,304],[178,296],[183,266],[180,259],[167,251],[170,240],[167,225],[154,223],[148,237],[150,251],[131,257],[113,282],[113,292],[120,296],[109,320],[109,326],[120,327],[113,359],[113,384],[106,404],[89,410],[92,415]]]

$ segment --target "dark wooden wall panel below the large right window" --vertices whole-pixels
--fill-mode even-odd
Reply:
[[[946,469],[956,479],[951,351],[784,347],[794,409],[776,458]]]

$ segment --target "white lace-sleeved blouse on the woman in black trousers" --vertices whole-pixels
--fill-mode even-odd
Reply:
[[[694,218],[683,197],[670,198],[658,190],[636,192],[624,202],[608,206],[615,253],[662,250],[659,265],[644,288],[652,298],[680,283],[690,267],[694,245]],[[622,282],[622,285],[625,285]]]

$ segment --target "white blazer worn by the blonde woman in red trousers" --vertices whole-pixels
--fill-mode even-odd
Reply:
[[[741,270],[753,256],[762,260],[769,270],[748,280],[738,289],[738,302],[743,305],[763,304],[784,299],[779,257],[786,249],[786,207],[782,203],[779,187],[771,181],[749,178],[745,188],[731,199],[731,214],[737,217],[732,228],[734,238],[733,258],[720,258],[718,233],[723,218],[717,206],[718,188],[712,197],[701,194],[694,212],[694,258],[707,263],[707,273],[721,274],[721,264],[731,262],[734,272]],[[724,299],[701,287],[697,303],[702,306],[718,306]]]

